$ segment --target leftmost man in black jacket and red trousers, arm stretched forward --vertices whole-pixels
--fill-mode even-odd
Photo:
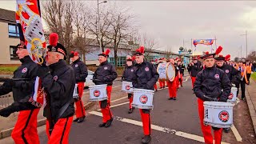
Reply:
[[[18,54],[22,66],[19,66],[18,69],[14,71],[13,79],[9,79],[0,86],[0,95],[8,94],[11,91],[13,92],[14,103],[0,110],[0,115],[8,117],[11,113],[19,111],[18,120],[11,133],[14,142],[33,142],[39,144],[37,130],[39,108],[28,102],[34,94],[34,81],[37,76],[38,65],[31,60],[25,45],[18,44],[16,54]],[[14,79],[17,78],[21,79],[19,81],[14,81]]]

